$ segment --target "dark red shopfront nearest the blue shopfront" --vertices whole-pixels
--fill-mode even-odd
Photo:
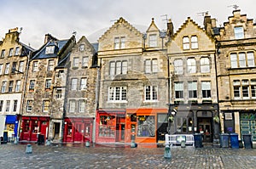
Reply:
[[[22,116],[20,127],[20,141],[38,141],[38,134],[48,136],[49,117],[48,116]]]

